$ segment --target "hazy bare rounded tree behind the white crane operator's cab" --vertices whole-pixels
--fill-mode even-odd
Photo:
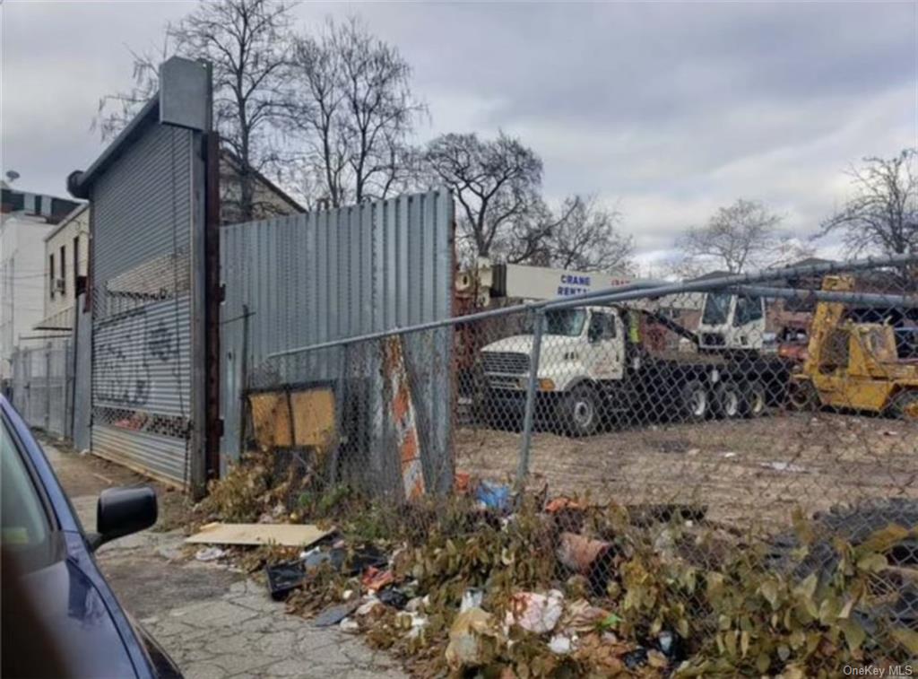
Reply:
[[[717,209],[706,226],[692,227],[677,240],[683,255],[679,267],[722,267],[736,274],[768,266],[788,244],[778,233],[782,220],[763,203],[740,198]]]

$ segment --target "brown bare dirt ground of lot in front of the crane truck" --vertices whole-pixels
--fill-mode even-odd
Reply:
[[[506,480],[516,432],[462,428],[457,467]],[[850,414],[647,425],[572,439],[533,436],[531,487],[620,503],[700,503],[744,525],[879,497],[918,497],[918,424]]]

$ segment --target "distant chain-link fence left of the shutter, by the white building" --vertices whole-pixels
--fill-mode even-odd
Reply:
[[[12,356],[12,401],[30,426],[70,438],[73,426],[73,343],[51,340]]]

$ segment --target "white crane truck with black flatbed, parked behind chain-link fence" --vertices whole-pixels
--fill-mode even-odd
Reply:
[[[700,421],[764,413],[768,402],[781,398],[789,377],[782,359],[761,351],[764,300],[710,294],[697,303],[697,331],[648,304],[545,311],[535,416],[571,436],[588,436],[604,424],[639,418]],[[646,322],[686,338],[692,350],[650,351],[642,337]],[[484,389],[476,397],[488,420],[522,413],[533,330],[481,348]]]

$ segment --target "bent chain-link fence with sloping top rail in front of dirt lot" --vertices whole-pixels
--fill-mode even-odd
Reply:
[[[291,447],[297,473],[319,470],[326,494],[365,493],[421,536],[449,504],[420,511],[421,498],[465,495],[512,514],[526,494],[554,526],[551,549],[532,558],[581,577],[600,604],[632,606],[654,634],[709,639],[778,671],[770,658],[797,657],[811,639],[789,618],[766,617],[763,636],[755,610],[713,603],[724,578],[742,589],[738,573],[755,572],[776,616],[797,602],[792,616],[837,622],[853,658],[907,661],[918,634],[916,260],[633,286],[305,347],[253,371],[250,432],[265,420],[252,398],[281,386],[279,362],[332,367],[330,431],[313,433],[325,445],[313,458]],[[425,356],[444,332],[452,374],[431,375],[442,363]],[[450,412],[431,411],[431,389],[452,390]],[[294,441],[308,418],[291,405],[297,388],[285,390]],[[295,488],[287,509],[317,501]],[[839,584],[863,573],[863,589]],[[833,667],[830,647],[806,651],[824,655],[811,670]]]

